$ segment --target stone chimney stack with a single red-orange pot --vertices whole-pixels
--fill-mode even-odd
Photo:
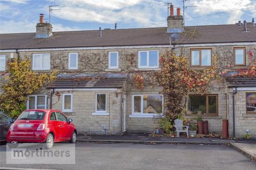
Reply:
[[[44,14],[40,14],[39,23],[36,24],[36,38],[49,38],[52,36],[52,25],[44,22]]]

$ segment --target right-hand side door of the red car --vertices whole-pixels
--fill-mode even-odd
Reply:
[[[68,119],[60,112],[56,112],[56,115],[58,118],[60,140],[68,140],[71,137],[71,134],[69,134]]]

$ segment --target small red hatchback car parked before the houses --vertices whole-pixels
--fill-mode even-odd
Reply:
[[[54,142],[76,142],[77,130],[71,118],[51,109],[27,110],[21,113],[7,132],[7,142],[46,143],[51,149]]]

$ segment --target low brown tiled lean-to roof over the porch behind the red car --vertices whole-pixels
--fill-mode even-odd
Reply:
[[[123,88],[126,77],[58,77],[47,89]]]

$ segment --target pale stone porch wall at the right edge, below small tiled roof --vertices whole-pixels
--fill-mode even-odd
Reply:
[[[237,91],[234,95],[235,99],[235,137],[242,138],[246,134],[246,129],[249,129],[249,134],[252,138],[256,138],[256,114],[246,113],[246,92],[256,91]],[[233,88],[229,89],[229,135],[233,137]]]

